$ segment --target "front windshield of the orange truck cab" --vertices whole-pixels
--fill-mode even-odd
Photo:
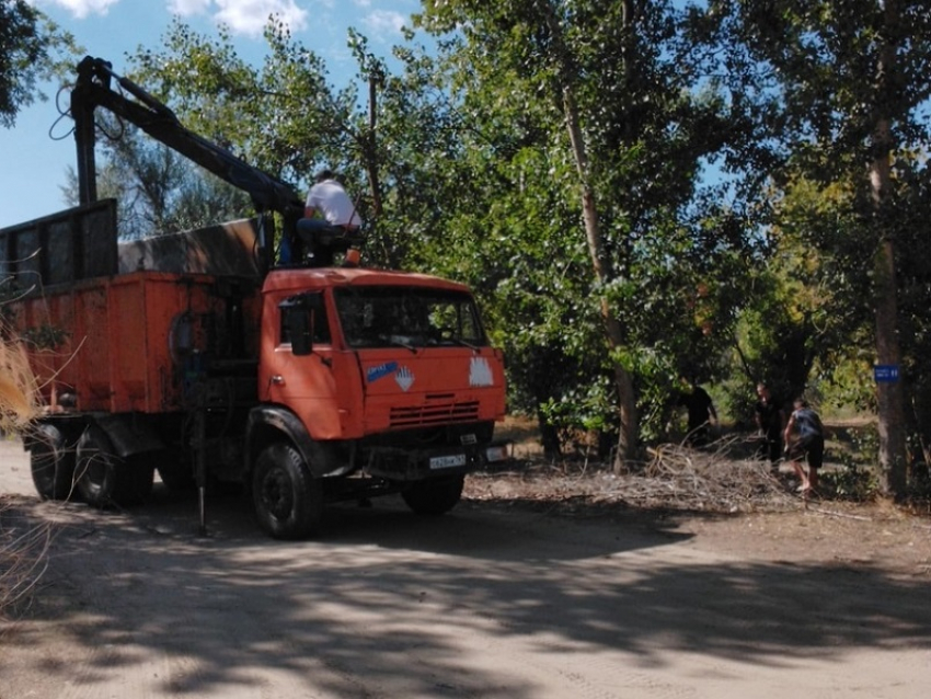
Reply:
[[[335,297],[346,344],[354,348],[486,344],[469,294],[359,286],[338,288]]]

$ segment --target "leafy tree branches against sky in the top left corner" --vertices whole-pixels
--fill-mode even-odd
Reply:
[[[12,127],[22,107],[44,98],[38,83],[60,75],[77,50],[69,33],[25,0],[0,0],[0,125]]]

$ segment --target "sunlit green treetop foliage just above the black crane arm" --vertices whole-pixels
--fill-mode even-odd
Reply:
[[[131,57],[130,77],[195,133],[306,186],[321,165],[345,163],[355,91],[335,93],[322,59],[292,42],[278,20],[269,20],[265,41],[260,70],[239,57],[226,28],[212,39],[176,20],[161,50]]]

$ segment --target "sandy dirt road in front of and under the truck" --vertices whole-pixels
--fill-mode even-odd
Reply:
[[[10,442],[0,493],[57,532],[35,603],[0,640],[2,699],[931,692],[928,571],[795,557],[772,532],[755,550],[713,523],[480,501],[422,519],[376,501],[285,543],[227,495],[203,538],[193,497],[160,485],[129,513],[38,503]]]

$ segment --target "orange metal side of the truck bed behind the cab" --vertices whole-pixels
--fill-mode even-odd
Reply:
[[[257,356],[248,282],[143,271],[50,288],[9,310],[46,400],[79,411],[180,410],[211,363]]]

